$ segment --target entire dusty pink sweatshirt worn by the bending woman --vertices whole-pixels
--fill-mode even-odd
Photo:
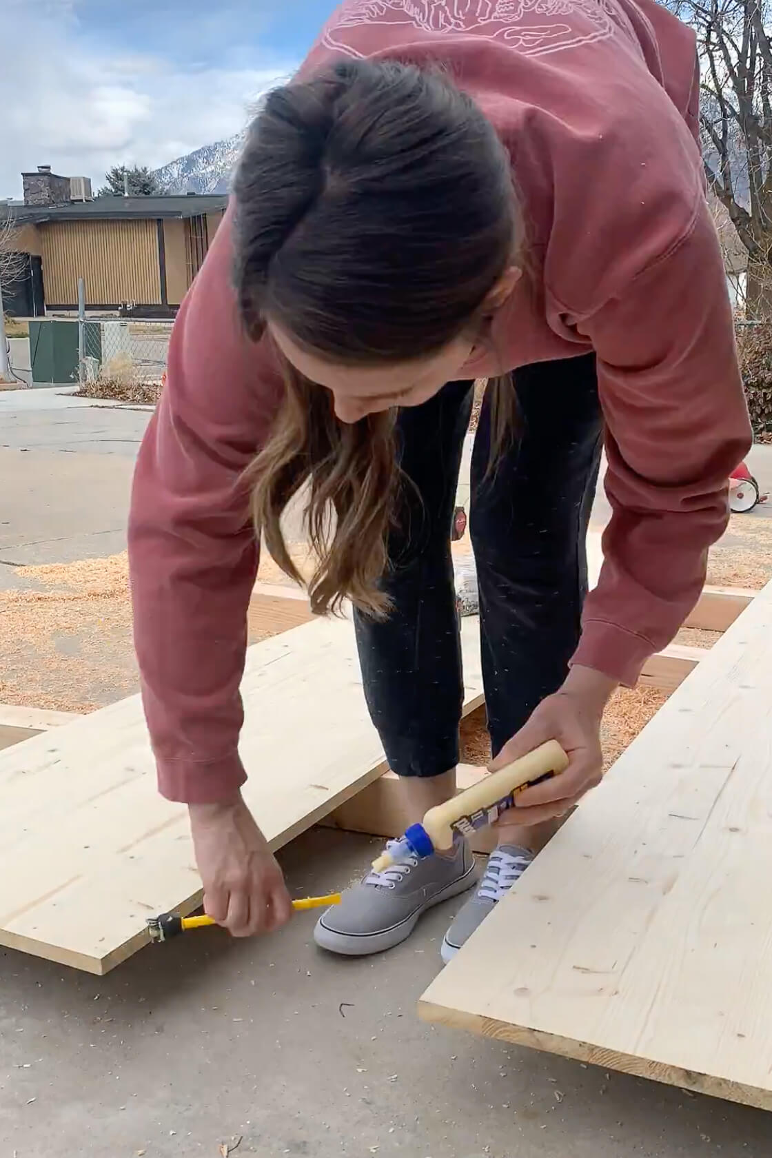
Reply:
[[[303,74],[341,53],[442,63],[512,154],[534,276],[494,322],[499,360],[459,376],[595,351],[613,514],[574,662],[632,684],[699,595],[750,445],[696,144],[693,34],[653,0],[350,0]],[[160,787],[191,802],[245,778],[258,549],[238,476],[280,394],[270,352],[242,336],[230,259],[226,215],[177,317],[130,525]]]

